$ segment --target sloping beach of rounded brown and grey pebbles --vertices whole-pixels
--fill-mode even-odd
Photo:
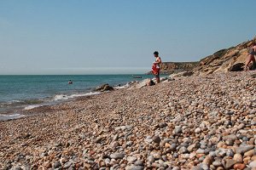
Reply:
[[[177,77],[0,122],[0,169],[256,169],[256,71]]]

